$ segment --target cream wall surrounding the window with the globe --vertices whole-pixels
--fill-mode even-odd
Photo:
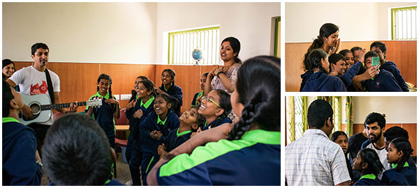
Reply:
[[[281,15],[281,3],[158,3],[157,14],[156,63],[168,61],[164,32],[212,25],[220,26],[220,42],[240,40],[244,61],[271,53],[271,22]]]

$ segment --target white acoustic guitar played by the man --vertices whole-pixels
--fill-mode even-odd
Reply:
[[[22,116],[22,113],[19,114],[19,122],[23,125],[29,125],[31,123],[45,123],[52,117],[53,109],[62,109],[70,107],[70,103],[62,104],[51,104],[51,99],[48,95],[38,94],[38,95],[22,95],[23,103],[26,104],[29,108],[32,109],[34,114],[34,119],[27,119]],[[100,107],[102,105],[101,99],[89,100],[86,102],[78,102],[78,106],[90,106],[90,107]]]

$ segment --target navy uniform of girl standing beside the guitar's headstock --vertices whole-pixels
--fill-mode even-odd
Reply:
[[[108,137],[110,147],[115,148],[115,120],[114,120],[114,113],[117,111],[116,104],[108,104],[105,102],[108,98],[110,98],[109,93],[106,93],[105,97],[103,97],[99,92],[95,95],[91,96],[89,100],[93,100],[94,97],[102,97],[102,106],[93,109],[93,115],[96,119],[96,122],[101,126],[103,131],[105,131],[106,136]],[[115,96],[112,95],[112,98],[116,100]],[[86,113],[89,111],[89,106],[86,107],[84,110]]]

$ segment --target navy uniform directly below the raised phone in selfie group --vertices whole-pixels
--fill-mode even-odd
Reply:
[[[374,79],[362,81],[362,86],[370,92],[402,91],[395,77],[387,70],[380,70]]]

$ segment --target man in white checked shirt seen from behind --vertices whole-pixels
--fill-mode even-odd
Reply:
[[[333,110],[325,100],[311,102],[307,112],[309,130],[285,147],[285,179],[288,185],[349,185],[343,150],[330,141]]]

